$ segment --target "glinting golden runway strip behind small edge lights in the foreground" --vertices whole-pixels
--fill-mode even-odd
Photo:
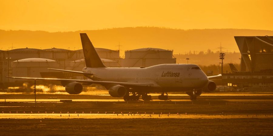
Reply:
[[[61,116],[62,115],[62,116]],[[205,115],[205,114],[0,114],[2,118],[26,119],[26,118],[273,118],[273,115],[266,114],[240,114],[240,115]]]

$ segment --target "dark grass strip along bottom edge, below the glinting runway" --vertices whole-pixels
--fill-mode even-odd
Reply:
[[[273,119],[1,119],[1,135],[272,135]]]

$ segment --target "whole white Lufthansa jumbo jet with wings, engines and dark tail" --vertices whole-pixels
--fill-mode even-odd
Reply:
[[[140,68],[106,67],[86,33],[80,34],[86,67],[83,71],[59,70],[83,74],[88,80],[9,77],[16,79],[61,81],[69,94],[79,94],[82,85],[100,84],[109,90],[112,97],[123,97],[125,101],[151,100],[151,92],[160,92],[160,100],[167,100],[167,92],[186,92],[195,100],[202,92],[213,92],[216,84],[195,64],[160,64]],[[90,80],[92,79],[92,80]],[[165,95],[166,94],[166,95]]]

